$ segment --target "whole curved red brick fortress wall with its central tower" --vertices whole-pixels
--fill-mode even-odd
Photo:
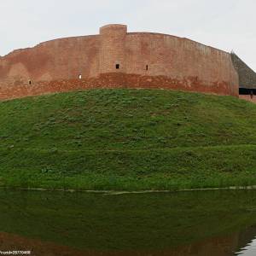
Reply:
[[[102,26],[0,58],[0,99],[89,88],[165,88],[238,96],[229,53],[186,38]]]

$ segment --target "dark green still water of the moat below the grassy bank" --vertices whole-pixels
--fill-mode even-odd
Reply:
[[[0,251],[256,255],[256,191],[104,195],[0,191]],[[254,254],[246,254],[252,253]]]

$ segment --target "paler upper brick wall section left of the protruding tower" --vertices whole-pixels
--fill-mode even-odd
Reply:
[[[31,49],[18,49],[0,59],[1,85],[56,79],[78,79],[98,74],[98,36],[62,38]]]

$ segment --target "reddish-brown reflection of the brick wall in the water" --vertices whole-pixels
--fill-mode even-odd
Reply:
[[[196,242],[194,244],[177,247],[161,252],[95,252],[79,251],[66,246],[56,245],[51,242],[32,240],[21,236],[0,233],[0,247],[2,251],[13,250],[31,250],[32,255],[63,255],[66,256],[228,256],[234,255],[242,247],[253,240],[256,235],[256,227],[250,227],[242,232],[237,232],[230,236],[207,239],[206,241]],[[34,254],[33,254],[34,253]]]

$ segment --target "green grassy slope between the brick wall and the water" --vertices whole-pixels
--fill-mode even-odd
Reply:
[[[256,105],[172,90],[0,102],[0,185],[189,189],[256,184]]]

